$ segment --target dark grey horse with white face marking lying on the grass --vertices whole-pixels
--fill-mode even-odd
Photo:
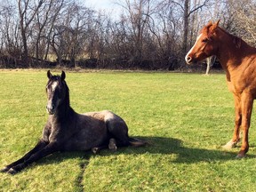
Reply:
[[[8,164],[2,172],[16,173],[38,159],[56,151],[76,151],[101,148],[116,150],[117,147],[143,146],[146,142],[128,136],[128,127],[116,114],[104,110],[77,114],[69,105],[68,85],[65,72],[52,76],[47,72],[46,85],[49,118],[44,126],[43,137],[36,147],[18,161]]]

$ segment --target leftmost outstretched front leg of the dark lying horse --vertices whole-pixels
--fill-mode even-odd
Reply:
[[[10,169],[12,169],[12,167],[17,166],[18,164],[22,164],[24,163],[26,160],[28,160],[28,158],[30,156],[32,156],[33,154],[35,154],[37,151],[41,150],[42,148],[44,148],[48,143],[45,142],[44,140],[39,140],[35,146],[35,148],[33,148],[32,150],[28,151],[28,153],[21,157],[19,160],[13,162],[12,164],[8,164],[4,167],[4,169],[2,169],[0,172],[8,172]]]

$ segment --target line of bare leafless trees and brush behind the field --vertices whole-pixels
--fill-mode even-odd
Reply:
[[[256,44],[255,0],[116,0],[122,13],[86,1],[1,0],[1,68],[187,68],[202,26],[219,20]],[[115,12],[115,10],[113,10]]]

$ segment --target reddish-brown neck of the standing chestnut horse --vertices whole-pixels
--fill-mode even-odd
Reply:
[[[216,53],[222,68],[230,73],[243,63],[244,58],[255,55],[256,49],[246,44],[243,39],[229,34],[222,28],[218,28],[219,49]]]

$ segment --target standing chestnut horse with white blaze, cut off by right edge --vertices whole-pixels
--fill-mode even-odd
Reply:
[[[235,130],[232,140],[224,148],[233,148],[240,140],[242,146],[237,157],[244,157],[249,150],[248,132],[256,98],[256,48],[219,27],[219,22],[206,25],[196,43],[185,57],[188,64],[216,55],[227,76],[228,89],[235,100]]]

